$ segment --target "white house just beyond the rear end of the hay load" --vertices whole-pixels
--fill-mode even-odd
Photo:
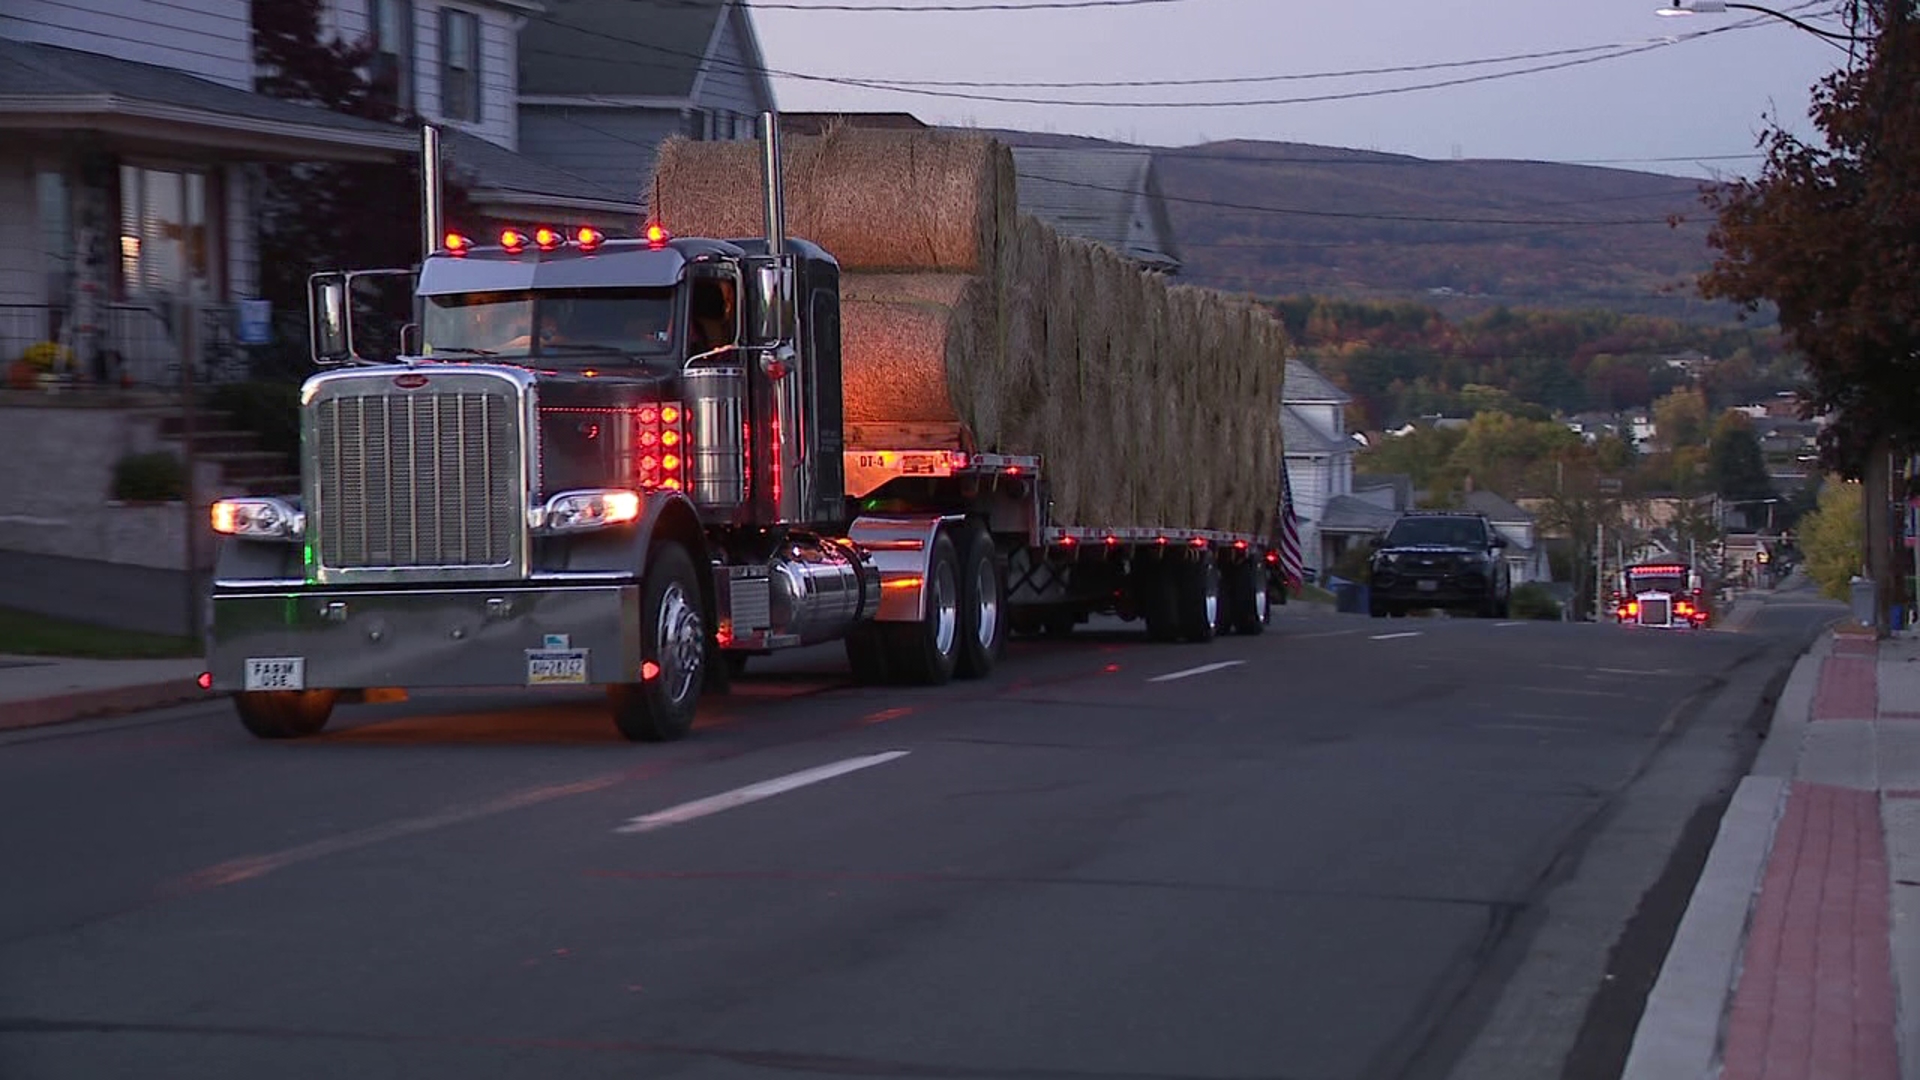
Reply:
[[[1373,503],[1365,502],[1357,507],[1340,503],[1354,513],[1334,519],[1334,528],[1327,528],[1334,500],[1354,494],[1356,446],[1346,434],[1348,402],[1352,398],[1325,375],[1302,359],[1288,357],[1286,386],[1281,392],[1286,484],[1294,496],[1294,517],[1300,521],[1300,552],[1309,567],[1321,571],[1332,567],[1352,542],[1377,532],[1369,527]]]

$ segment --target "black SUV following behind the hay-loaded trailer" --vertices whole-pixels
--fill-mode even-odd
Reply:
[[[1507,538],[1484,515],[1469,511],[1405,513],[1375,538],[1367,561],[1375,619],[1415,607],[1473,611],[1505,619],[1513,577],[1501,550]]]

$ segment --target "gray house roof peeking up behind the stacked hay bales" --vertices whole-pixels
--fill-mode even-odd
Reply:
[[[1068,236],[1179,271],[1173,221],[1150,150],[1014,146],[1020,209]]]

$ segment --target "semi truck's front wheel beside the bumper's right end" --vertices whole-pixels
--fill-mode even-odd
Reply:
[[[639,592],[641,680],[607,688],[612,723],[632,742],[672,742],[693,730],[707,667],[707,619],[687,550],[664,540]],[[647,673],[651,671],[651,678]]]

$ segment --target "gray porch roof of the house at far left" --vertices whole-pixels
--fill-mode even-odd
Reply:
[[[211,127],[221,127],[221,119],[250,121],[252,127],[303,127],[313,136],[334,135],[359,146],[405,150],[415,144],[415,136],[399,125],[238,90],[154,63],[0,38],[0,113],[10,111],[10,106],[25,108],[27,102],[36,111],[48,111],[48,104],[71,102],[71,108],[58,111],[83,115],[140,115],[142,108],[165,106],[202,113]]]

